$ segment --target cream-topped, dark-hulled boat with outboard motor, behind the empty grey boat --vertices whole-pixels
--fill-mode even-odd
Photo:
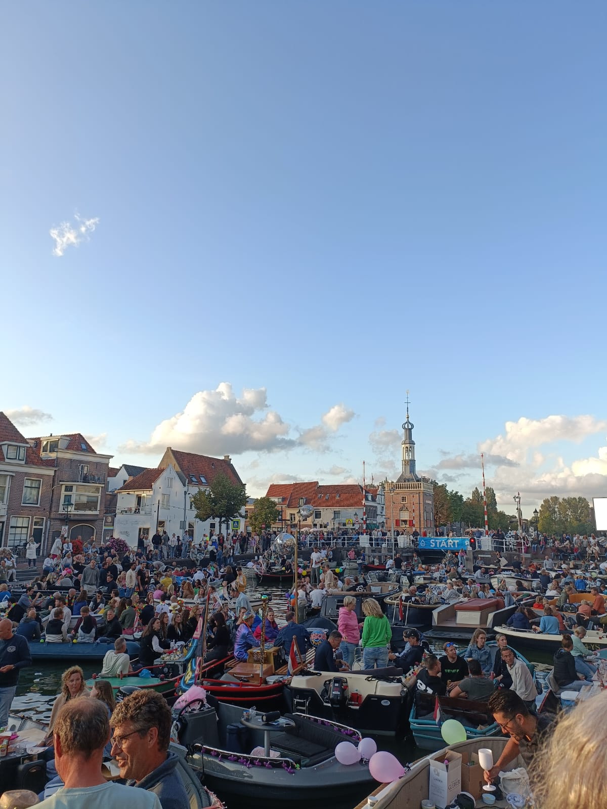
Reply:
[[[290,710],[356,726],[363,733],[397,735],[405,725],[415,680],[402,669],[301,671],[284,685]]]

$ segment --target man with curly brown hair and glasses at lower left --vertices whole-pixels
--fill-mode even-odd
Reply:
[[[168,751],[172,717],[164,697],[155,691],[134,691],[117,705],[110,724],[112,758],[121,778],[129,779],[129,786],[158,795],[162,809],[189,809],[177,770],[179,760]]]

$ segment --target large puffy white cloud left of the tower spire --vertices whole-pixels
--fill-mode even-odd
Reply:
[[[291,426],[268,408],[265,388],[245,388],[236,396],[231,384],[222,382],[214,391],[195,393],[181,413],[155,427],[148,442],[130,440],[119,448],[149,454],[173,447],[208,455],[295,447],[326,451],[330,435],[354,417],[353,411],[337,404],[325,413],[321,424],[300,430],[299,438],[291,438]]]

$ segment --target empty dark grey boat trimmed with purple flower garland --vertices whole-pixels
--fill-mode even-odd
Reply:
[[[367,764],[346,767],[335,757],[342,741],[359,743],[354,728],[304,714],[285,714],[284,731],[270,735],[270,756],[264,755],[264,731],[245,727],[243,709],[207,695],[174,712],[173,739],[188,750],[189,766],[231,799],[263,807],[309,807],[315,801],[354,803],[373,782]],[[261,726],[262,727],[262,726]],[[272,755],[274,752],[274,756]],[[278,754],[278,755],[276,755]]]

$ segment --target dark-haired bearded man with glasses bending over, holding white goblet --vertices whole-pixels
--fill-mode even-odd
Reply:
[[[552,731],[552,720],[545,714],[531,714],[527,705],[514,691],[496,691],[488,704],[490,713],[499,724],[504,735],[510,736],[502,755],[489,770],[485,770],[485,781],[490,784],[500,770],[505,769],[516,756],[522,756],[529,766],[533,756],[545,741],[546,733]]]

